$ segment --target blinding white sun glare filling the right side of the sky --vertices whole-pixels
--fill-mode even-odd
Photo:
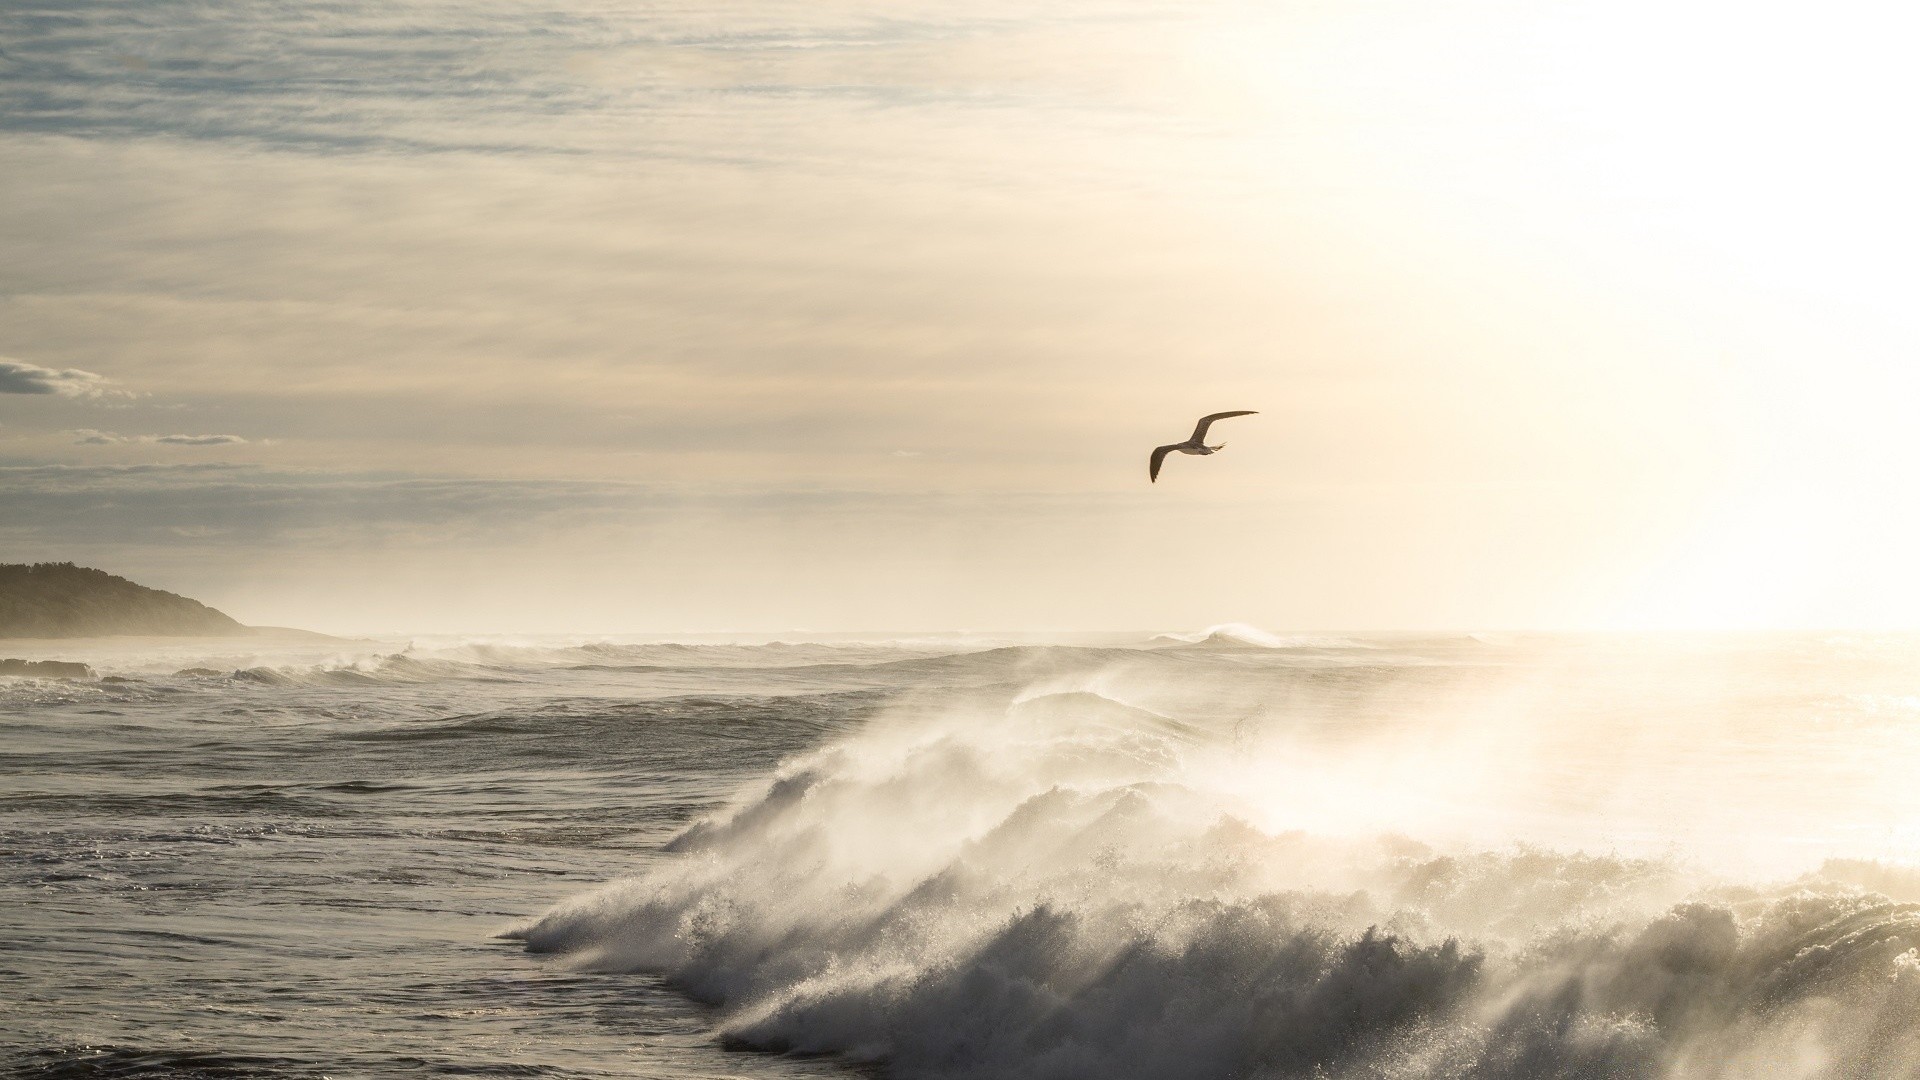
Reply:
[[[1240,163],[1369,190],[1394,244],[1432,229],[1428,267],[1617,311],[1609,363],[1642,377],[1596,427],[1672,407],[1668,467],[1711,482],[1594,623],[1887,626],[1920,615],[1914,29],[1895,4],[1361,4],[1242,13],[1188,69],[1263,131]]]

